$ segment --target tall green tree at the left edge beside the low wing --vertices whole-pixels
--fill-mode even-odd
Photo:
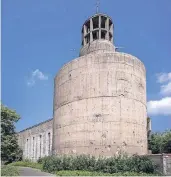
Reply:
[[[20,160],[22,151],[19,148],[15,123],[20,116],[1,104],[1,160],[10,163]]]

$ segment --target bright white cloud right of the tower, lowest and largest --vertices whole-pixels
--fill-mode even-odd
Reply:
[[[150,115],[171,115],[171,97],[149,101],[147,109]]]

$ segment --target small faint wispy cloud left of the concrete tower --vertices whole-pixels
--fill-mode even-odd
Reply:
[[[33,86],[37,80],[48,80],[48,76],[43,74],[39,69],[36,69],[31,73],[30,79],[27,81],[28,86]]]

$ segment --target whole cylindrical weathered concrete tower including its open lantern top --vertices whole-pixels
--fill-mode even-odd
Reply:
[[[80,57],[55,77],[54,154],[147,153],[146,71],[115,51],[110,17],[82,27]]]

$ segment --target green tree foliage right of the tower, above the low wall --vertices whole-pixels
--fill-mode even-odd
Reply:
[[[171,153],[171,129],[162,133],[152,133],[149,147],[153,154]]]

